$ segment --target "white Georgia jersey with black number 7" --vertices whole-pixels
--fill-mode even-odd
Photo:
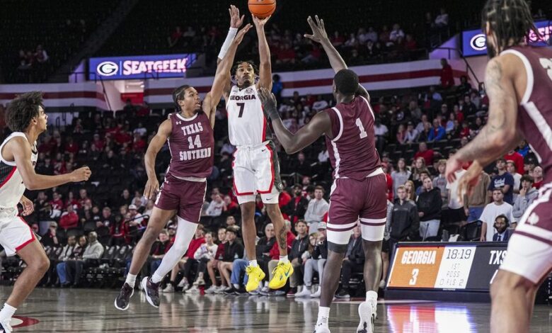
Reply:
[[[228,99],[228,135],[232,145],[260,145],[271,139],[255,85],[244,89],[233,86]]]

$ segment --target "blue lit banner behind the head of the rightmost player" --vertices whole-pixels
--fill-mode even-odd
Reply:
[[[541,39],[539,40],[535,33],[531,32],[529,44],[534,46],[548,45],[552,33],[552,21],[535,22],[535,26],[541,34]],[[462,53],[464,53],[464,57],[487,55],[487,38],[481,29],[462,32]]]

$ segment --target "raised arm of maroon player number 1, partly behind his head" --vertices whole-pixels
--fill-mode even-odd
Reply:
[[[336,50],[330,42],[330,38],[328,38],[328,33],[326,33],[326,26],[324,26],[324,20],[318,18],[318,15],[314,16],[314,18],[316,21],[313,20],[311,16],[306,19],[306,22],[309,23],[309,26],[311,26],[312,35],[306,34],[305,38],[314,40],[316,43],[320,43],[322,45],[324,51],[326,52],[326,55],[328,55],[328,60],[330,60],[330,65],[333,68],[333,72],[337,73],[341,69],[347,69],[347,64],[345,64],[345,60],[343,60],[338,50]],[[358,96],[363,96],[368,101],[370,101],[368,91],[366,91],[362,84],[358,85],[356,94]]]

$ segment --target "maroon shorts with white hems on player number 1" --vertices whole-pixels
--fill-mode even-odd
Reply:
[[[381,169],[360,181],[335,179],[330,194],[328,242],[347,244],[359,221],[363,239],[372,242],[384,239],[386,192],[386,178]]]

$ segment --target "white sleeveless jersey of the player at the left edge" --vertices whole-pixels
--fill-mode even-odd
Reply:
[[[13,139],[13,137],[27,137],[23,132],[13,132],[10,136],[2,142],[0,145],[0,208],[15,208],[21,196],[25,192],[25,184],[23,184],[23,178],[16,166],[16,162],[8,162],[2,157],[2,149],[6,142]],[[30,161],[35,166],[38,159],[38,152],[36,150],[36,142],[33,142]]]

